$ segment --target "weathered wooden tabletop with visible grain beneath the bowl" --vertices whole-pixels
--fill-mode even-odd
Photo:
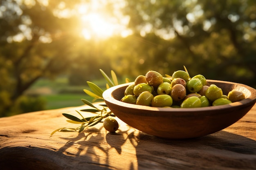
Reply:
[[[61,113],[86,106],[0,119],[1,170],[256,170],[256,105],[235,124],[188,140],[160,139],[119,121],[115,134],[102,126],[81,133],[56,132],[78,125]]]

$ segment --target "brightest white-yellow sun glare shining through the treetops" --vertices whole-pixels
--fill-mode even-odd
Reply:
[[[121,14],[115,15],[117,18],[110,16],[108,13],[104,12],[103,8],[104,4],[100,4],[99,1],[79,5],[77,11],[81,20],[81,34],[86,40],[94,38],[106,39],[117,34],[125,37],[131,34],[131,31],[126,29],[129,18]],[[118,9],[114,11],[114,13],[117,12]]]

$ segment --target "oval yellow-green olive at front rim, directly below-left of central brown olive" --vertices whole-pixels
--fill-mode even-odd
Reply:
[[[173,104],[173,99],[170,95],[157,95],[152,99],[151,106],[166,107]]]

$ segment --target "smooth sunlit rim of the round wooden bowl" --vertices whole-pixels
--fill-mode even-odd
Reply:
[[[132,109],[139,109],[139,110],[150,110],[150,111],[162,111],[162,112],[195,112],[195,111],[212,111],[212,110],[223,110],[223,109],[229,109],[229,108],[234,108],[234,107],[240,107],[240,106],[247,106],[247,105],[252,105],[256,102],[256,89],[247,86],[245,84],[240,84],[240,83],[234,83],[234,82],[227,82],[227,81],[221,81],[221,80],[212,80],[212,79],[207,79],[207,82],[211,82],[211,84],[216,83],[227,83],[227,84],[234,84],[237,86],[243,86],[244,88],[247,88],[247,90],[250,91],[251,95],[247,97],[246,99],[243,99],[238,102],[233,102],[231,104],[225,104],[225,105],[220,105],[220,106],[208,106],[208,107],[201,107],[201,108],[160,108],[160,107],[152,107],[152,106],[142,106],[142,105],[136,105],[136,104],[129,104],[125,102],[121,102],[117,99],[115,99],[112,95],[112,92],[119,89],[119,88],[124,88],[124,86],[128,86],[134,82],[129,82],[129,83],[124,83],[124,84],[119,84],[117,86],[112,86],[105,90],[102,94],[104,101],[107,101],[109,103],[119,105],[119,106],[124,106],[126,108],[132,108]]]

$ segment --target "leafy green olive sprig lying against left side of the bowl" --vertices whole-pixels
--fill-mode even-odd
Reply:
[[[107,81],[106,89],[108,89],[112,86],[118,85],[117,75],[115,74],[114,71],[111,70],[111,78],[112,79],[110,79],[110,77],[108,77],[108,75],[103,70],[100,69],[100,72],[103,75],[103,77],[105,78],[105,80]],[[130,80],[128,78],[126,78],[125,81],[130,82]],[[111,110],[108,109],[108,106],[106,104],[100,104],[99,106],[101,106],[102,108],[98,108],[93,104],[93,102],[95,102],[97,99],[103,100],[102,94],[104,91],[99,86],[97,86],[96,84],[94,84],[92,82],[87,82],[87,84],[90,87],[91,91],[89,91],[87,89],[84,89],[83,91],[87,95],[93,97],[94,99],[92,100],[92,102],[89,102],[86,99],[81,99],[81,101],[84,104],[90,106],[91,108],[83,109],[80,111],[94,113],[94,114],[96,114],[96,116],[83,117],[83,115],[77,110],[76,110],[76,112],[81,116],[81,118],[78,118],[76,116],[73,116],[73,115],[70,115],[67,113],[62,113],[62,115],[68,119],[67,122],[72,123],[72,124],[81,124],[81,125],[77,128],[58,128],[51,133],[51,136],[56,132],[82,132],[86,127],[94,126],[94,125],[102,122],[102,120],[106,117],[109,117],[109,116],[115,117],[115,115],[111,112]]]

